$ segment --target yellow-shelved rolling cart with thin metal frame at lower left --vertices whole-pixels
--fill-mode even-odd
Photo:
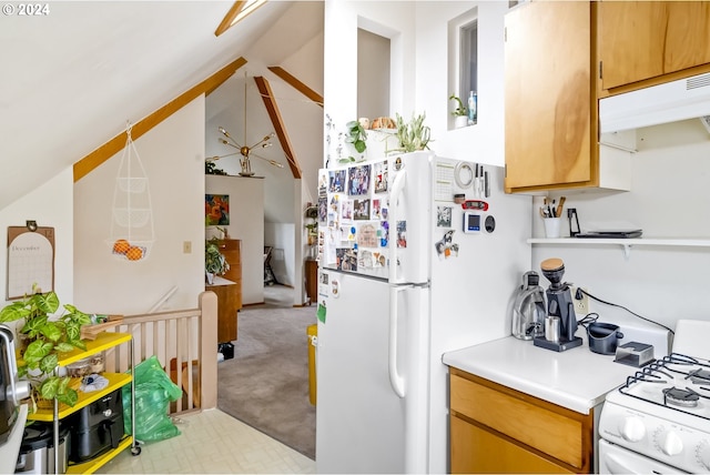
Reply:
[[[87,342],[87,350],[74,350],[70,353],[64,353],[59,358],[60,366],[67,366],[69,364],[75,363],[80,360],[83,360],[92,354],[100,353],[102,351],[112,348],[118,345],[122,345],[129,343],[130,347],[130,361],[133,361],[133,336],[130,333],[110,333],[104,332],[97,335],[97,338],[93,341]],[[21,363],[20,363],[21,364]],[[54,405],[51,408],[39,408],[36,413],[29,414],[28,420],[30,421],[43,421],[43,422],[53,422],[54,423],[54,446],[59,446],[59,422],[64,417],[80,411],[83,407],[87,407],[91,403],[99,401],[101,397],[106,394],[111,394],[112,392],[125,386],[126,384],[131,385],[131,434],[124,435],[121,439],[116,448],[112,448],[91,461],[87,461],[75,465],[68,465],[67,473],[68,474],[92,474],[103,465],[105,465],[109,461],[115,457],[119,453],[124,451],[128,447],[131,447],[131,452],[133,455],[139,455],[141,453],[141,447],[138,445],[138,441],[135,441],[135,391],[133,386],[133,367],[131,367],[131,372],[129,374],[125,373],[102,373],[102,376],[109,380],[109,385],[101,391],[94,391],[91,393],[82,393],[79,392],[79,401],[74,404],[73,407],[68,406],[65,404],[60,404],[54,401]],[[58,453],[54,454],[54,466],[59,467],[57,463]]]

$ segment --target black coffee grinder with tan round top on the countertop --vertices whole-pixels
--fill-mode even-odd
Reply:
[[[545,335],[537,336],[532,343],[556,352],[580,346],[581,337],[577,333],[577,315],[571,291],[566,282],[565,263],[561,259],[547,259],[540,263],[542,275],[550,281],[550,286],[545,291],[547,297],[547,316],[545,317]]]

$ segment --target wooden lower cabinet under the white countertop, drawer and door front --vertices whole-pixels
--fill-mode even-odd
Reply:
[[[594,415],[450,370],[452,473],[591,473]]]

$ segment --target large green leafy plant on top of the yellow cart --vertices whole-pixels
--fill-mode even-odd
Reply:
[[[75,306],[64,304],[64,313],[50,320],[60,307],[54,292],[34,293],[0,310],[0,323],[23,321],[18,331],[27,346],[20,350],[18,373],[28,377],[34,395],[57,400],[73,406],[79,394],[69,387],[71,378],[54,374],[62,353],[74,348],[85,350],[81,340],[81,326],[91,323],[91,316]]]

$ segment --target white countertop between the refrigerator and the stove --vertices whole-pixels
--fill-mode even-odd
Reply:
[[[582,332],[578,332],[578,335]],[[604,402],[637,368],[581,346],[555,352],[514,336],[445,353],[448,366],[581,414]]]

